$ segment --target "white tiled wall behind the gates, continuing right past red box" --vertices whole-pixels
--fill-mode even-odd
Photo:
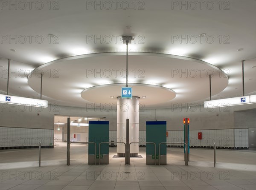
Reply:
[[[199,132],[202,133],[202,140],[198,139]],[[146,131],[140,131],[139,136],[139,142],[146,142]],[[116,141],[116,131],[109,131],[109,137]],[[190,146],[211,147],[215,142],[216,147],[248,147],[248,129],[189,130],[189,139]],[[166,141],[184,142],[183,130],[169,130]]]

